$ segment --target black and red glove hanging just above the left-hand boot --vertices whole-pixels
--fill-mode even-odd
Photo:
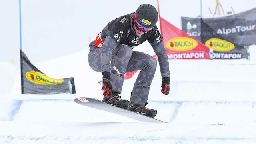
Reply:
[[[110,98],[110,95],[112,94],[112,85],[110,81],[110,72],[102,72],[102,88],[103,95],[107,98]]]

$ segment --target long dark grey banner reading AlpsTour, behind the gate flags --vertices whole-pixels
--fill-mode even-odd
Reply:
[[[182,17],[182,30],[202,42],[201,20],[228,42],[242,46],[256,44],[256,8],[217,18]],[[196,25],[196,27],[190,27]]]

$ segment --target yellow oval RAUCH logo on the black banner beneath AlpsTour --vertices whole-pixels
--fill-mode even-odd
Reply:
[[[211,38],[205,42],[205,45],[218,52],[227,52],[235,48],[231,42],[219,38]]]

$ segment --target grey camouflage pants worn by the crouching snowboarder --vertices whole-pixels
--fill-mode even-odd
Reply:
[[[88,55],[90,67],[101,72],[100,55],[102,48],[92,48]],[[127,45],[118,44],[112,55],[111,61],[111,84],[113,92],[121,94],[124,83],[124,74],[140,70],[138,78],[134,84],[131,103],[144,105],[148,100],[148,92],[151,82],[156,71],[157,61],[152,56],[143,52],[132,51],[132,48]]]

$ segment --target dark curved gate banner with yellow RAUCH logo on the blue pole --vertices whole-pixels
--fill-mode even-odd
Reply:
[[[76,93],[74,78],[49,78],[38,70],[20,50],[22,94]]]

